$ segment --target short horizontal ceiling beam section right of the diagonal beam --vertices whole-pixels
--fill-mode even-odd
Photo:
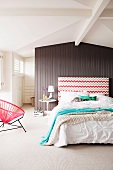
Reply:
[[[105,9],[99,18],[100,19],[113,19],[113,9]]]

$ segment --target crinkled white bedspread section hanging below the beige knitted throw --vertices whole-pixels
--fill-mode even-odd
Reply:
[[[87,121],[74,125],[63,124],[54,146],[62,147],[78,143],[112,143],[113,120]]]

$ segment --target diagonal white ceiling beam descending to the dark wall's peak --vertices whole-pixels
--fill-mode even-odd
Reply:
[[[99,18],[102,11],[105,9],[105,7],[108,5],[110,0],[97,0],[93,10],[92,10],[92,16],[90,19],[88,19],[85,23],[85,25],[81,28],[81,31],[75,40],[75,45],[79,45],[80,42],[83,40],[83,38],[86,36],[88,31],[91,29],[93,24],[96,22],[96,20]]]

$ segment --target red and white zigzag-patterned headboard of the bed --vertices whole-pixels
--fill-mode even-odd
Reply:
[[[58,101],[60,91],[101,93],[109,95],[109,78],[105,77],[58,77]]]

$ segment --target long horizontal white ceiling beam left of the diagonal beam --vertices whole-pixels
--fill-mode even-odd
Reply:
[[[0,16],[82,16],[91,17],[91,9],[0,9]]]

